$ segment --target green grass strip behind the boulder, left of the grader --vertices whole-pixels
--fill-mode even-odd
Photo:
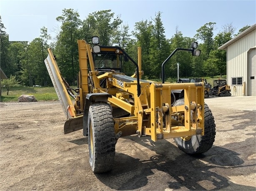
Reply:
[[[4,101],[18,101],[18,97],[23,94],[33,95],[38,101],[58,100],[58,96],[54,87],[13,87],[7,96],[7,90],[2,88],[1,102]]]

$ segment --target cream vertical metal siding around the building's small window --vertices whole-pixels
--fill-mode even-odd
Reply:
[[[243,86],[234,88],[231,84],[232,77],[243,77],[243,82],[248,84],[247,54],[248,50],[256,47],[256,30],[227,47],[227,83],[230,85],[233,96],[243,96]],[[247,96],[247,88],[245,91]]]

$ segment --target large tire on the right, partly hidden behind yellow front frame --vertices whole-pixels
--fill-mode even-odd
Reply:
[[[200,154],[211,149],[216,131],[214,117],[208,105],[204,104],[204,135],[194,135],[189,140],[187,137],[174,138],[178,148],[187,154]]]

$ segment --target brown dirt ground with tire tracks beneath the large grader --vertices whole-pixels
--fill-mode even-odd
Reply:
[[[189,156],[173,139],[128,136],[103,174],[90,169],[82,130],[63,134],[58,101],[0,103],[0,190],[255,190],[256,110],[216,105],[235,105],[232,97],[206,100],[216,139],[205,154]]]

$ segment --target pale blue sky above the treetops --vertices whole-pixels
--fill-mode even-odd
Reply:
[[[232,23],[236,34],[256,23],[256,0],[0,0],[0,16],[9,41],[32,41],[40,36],[43,26],[55,37],[61,26],[56,17],[64,8],[77,11],[81,20],[92,12],[110,9],[128,24],[130,32],[136,22],[151,20],[161,12],[168,39],[176,27],[184,37],[194,37],[208,22],[216,22],[215,35],[225,24]]]

